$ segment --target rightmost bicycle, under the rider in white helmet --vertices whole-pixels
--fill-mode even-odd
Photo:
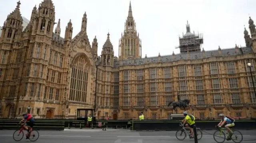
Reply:
[[[232,134],[230,140],[234,141],[235,143],[241,143],[241,142],[243,141],[243,135],[242,135],[242,133],[241,133],[240,131],[237,131],[237,130],[232,130],[232,127],[230,127],[230,129],[231,129],[231,131],[233,132],[233,134]],[[225,131],[225,130],[226,130],[226,128],[218,128],[218,130],[214,132],[213,138],[214,138],[214,140],[215,140],[217,143],[223,143],[223,142],[226,140],[226,136],[229,137],[228,132]],[[219,138],[220,138],[220,139],[223,139],[222,141],[217,141],[217,140],[216,140],[216,137],[215,137],[215,136],[218,136],[218,135],[219,135]],[[238,137],[241,138],[240,141],[238,141]],[[227,140],[228,140],[228,139],[227,139]],[[229,141],[229,140],[228,140],[228,141]]]

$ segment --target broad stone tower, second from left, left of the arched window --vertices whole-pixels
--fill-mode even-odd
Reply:
[[[35,9],[35,8],[34,8]],[[33,9],[33,11],[35,11]],[[52,57],[52,36],[53,36],[53,27],[55,20],[55,8],[52,3],[52,0],[44,0],[38,6],[37,12],[31,16],[29,25],[32,25],[32,33],[28,40],[30,40],[28,45],[28,54],[26,65],[23,68],[24,79],[26,79],[23,84],[26,88],[24,93],[24,101],[35,101],[34,107],[40,104],[40,101],[43,99],[48,99],[47,94],[43,92],[34,92],[29,91],[46,91],[49,90],[49,87],[46,86],[46,82],[49,81],[49,66],[51,64]],[[28,60],[30,59],[30,60]],[[34,62],[36,61],[36,62]],[[53,60],[52,60],[53,61]],[[56,64],[53,64],[56,65]],[[51,74],[50,74],[51,75]],[[33,98],[31,98],[34,96]],[[21,100],[22,101],[22,100]],[[33,112],[33,110],[31,110]]]

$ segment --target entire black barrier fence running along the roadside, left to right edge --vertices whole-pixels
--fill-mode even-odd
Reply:
[[[20,119],[0,119],[1,129],[19,129],[17,126]],[[133,131],[174,131],[180,129],[181,120],[98,120],[87,122],[86,120],[72,119],[36,119],[34,129],[37,130],[64,130],[64,128],[112,128],[129,129]],[[196,126],[204,130],[215,129],[218,120],[196,120]],[[256,129],[256,119],[236,120],[235,129]]]

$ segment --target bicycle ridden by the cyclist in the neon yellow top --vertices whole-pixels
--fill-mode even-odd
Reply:
[[[178,140],[183,141],[187,137],[187,134],[189,135],[190,138],[192,138],[191,135],[190,135],[191,131],[188,132],[188,130],[187,130],[187,129],[190,129],[189,127],[184,127],[182,123],[180,123],[179,126],[182,127],[182,129],[176,131],[176,134],[175,134],[176,138]],[[180,131],[181,131],[181,133],[179,133]],[[202,130],[199,127],[197,127],[196,132],[197,132],[197,139],[198,140],[202,139],[202,137],[203,137]],[[178,138],[178,136],[182,136],[182,133],[184,133],[184,137],[183,138]]]

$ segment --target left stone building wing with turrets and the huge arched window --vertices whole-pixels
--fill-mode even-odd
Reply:
[[[22,23],[18,2],[0,38],[0,116],[18,117],[30,109],[36,118],[68,118],[75,116],[77,108],[91,109],[97,51],[88,41],[86,13],[73,39],[71,20],[64,38],[60,20],[53,32],[52,0],[32,9],[24,30]]]

